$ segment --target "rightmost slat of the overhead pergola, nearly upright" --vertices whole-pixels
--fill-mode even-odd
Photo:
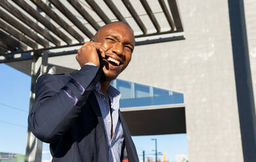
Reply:
[[[174,20],[174,24],[177,29],[177,32],[183,31],[177,1],[176,0],[168,0],[168,4],[169,4],[170,10],[171,10],[171,15],[173,16],[173,20]]]

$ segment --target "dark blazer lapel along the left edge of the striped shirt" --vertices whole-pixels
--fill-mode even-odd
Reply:
[[[102,118],[102,114],[100,112],[100,106],[98,105],[98,101],[95,97],[95,94],[93,93],[93,91],[90,93],[89,95],[89,98],[88,98],[88,103],[89,105],[91,105],[91,107],[93,108],[96,116],[97,116],[97,119],[98,119],[98,124],[99,124],[99,127],[100,127],[100,133],[102,133],[103,135],[100,135],[98,137],[103,137],[103,138],[97,138],[96,141],[100,144],[100,146],[104,145],[105,147],[105,151],[104,151],[104,154],[106,155],[106,159],[104,157],[101,157],[102,159],[105,159],[104,161],[108,161],[109,160],[109,155],[108,155],[108,143],[106,141],[106,131],[105,131],[105,128],[104,128],[104,121],[103,121],[103,118]]]

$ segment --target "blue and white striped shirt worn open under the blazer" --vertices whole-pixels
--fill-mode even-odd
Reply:
[[[108,88],[107,95],[110,99],[111,113],[108,101],[103,93],[100,92],[100,83],[97,83],[95,86],[96,99],[98,105],[100,106],[100,112],[104,121],[104,128],[106,133],[106,141],[108,142],[108,154],[110,162],[119,162],[121,158],[121,148],[123,145],[123,127],[119,120],[119,99],[121,97],[120,92],[112,87]],[[111,115],[113,122],[113,137],[111,138]]]

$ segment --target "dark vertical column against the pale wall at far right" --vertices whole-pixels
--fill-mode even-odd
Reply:
[[[228,0],[244,161],[256,161],[256,116],[243,0]]]

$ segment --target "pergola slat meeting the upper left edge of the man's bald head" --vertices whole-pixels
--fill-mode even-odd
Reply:
[[[95,22],[94,18],[80,5],[77,0],[68,0],[68,2],[75,8],[75,10],[77,10],[77,12],[79,12],[79,14],[81,14],[81,16],[83,16],[83,18],[85,18],[87,22],[89,22],[90,25],[93,26],[96,31],[100,29],[100,25]]]

